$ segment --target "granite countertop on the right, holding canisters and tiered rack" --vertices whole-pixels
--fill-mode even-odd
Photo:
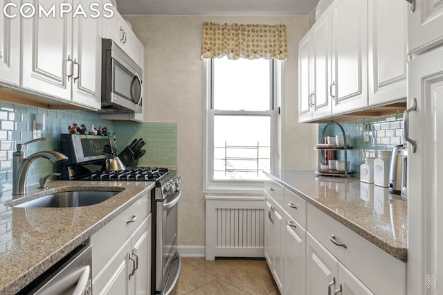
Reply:
[[[386,253],[407,260],[407,202],[388,188],[359,178],[315,177],[313,171],[264,173]]]

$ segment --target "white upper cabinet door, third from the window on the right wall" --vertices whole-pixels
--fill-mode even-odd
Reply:
[[[368,0],[332,3],[333,114],[368,105]]]

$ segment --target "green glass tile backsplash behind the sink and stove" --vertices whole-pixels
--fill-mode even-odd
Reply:
[[[93,111],[67,111],[28,107],[0,101],[0,184],[1,192],[12,189],[12,152],[17,143],[33,139],[33,120],[37,114],[46,115],[46,129],[42,132],[46,141],[32,143],[24,151],[29,156],[39,150],[60,151],[60,134],[68,132],[68,126],[78,123],[94,127],[108,127],[116,134],[118,152],[131,143],[134,138],[142,137],[147,153],[138,166],[177,167],[177,123],[136,123],[101,120]],[[26,184],[36,184],[40,177],[58,171],[58,165],[47,160],[33,162]]]

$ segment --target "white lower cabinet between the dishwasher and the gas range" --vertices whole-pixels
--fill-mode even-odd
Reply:
[[[91,236],[93,294],[150,294],[149,195]]]

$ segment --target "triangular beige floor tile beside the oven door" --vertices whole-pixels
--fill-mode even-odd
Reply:
[[[215,277],[206,274],[206,272],[197,269],[197,267],[193,267],[183,260],[183,263],[181,263],[179,280],[177,281],[177,287],[174,294],[187,294],[192,290],[206,285],[211,280],[215,280]]]

